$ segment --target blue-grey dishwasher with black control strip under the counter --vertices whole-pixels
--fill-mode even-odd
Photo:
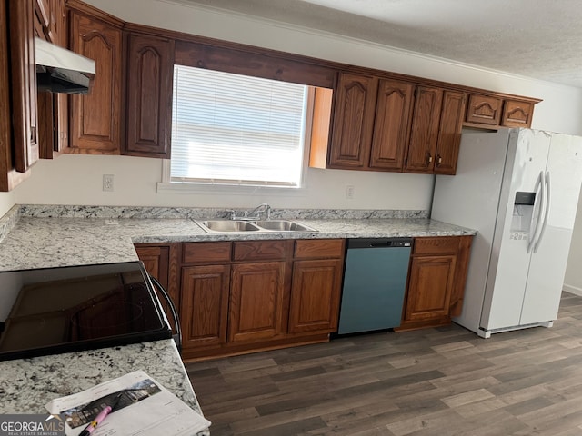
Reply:
[[[349,239],[337,334],[400,325],[412,238]]]

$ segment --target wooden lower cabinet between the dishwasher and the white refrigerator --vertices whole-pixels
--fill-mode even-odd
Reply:
[[[396,331],[448,324],[460,314],[472,239],[415,238],[402,322]]]

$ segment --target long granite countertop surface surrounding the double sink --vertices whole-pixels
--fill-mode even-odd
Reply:
[[[191,218],[25,215],[0,241],[0,271],[134,261],[134,243],[475,234],[470,229],[416,217],[292,219],[318,232],[206,233]]]

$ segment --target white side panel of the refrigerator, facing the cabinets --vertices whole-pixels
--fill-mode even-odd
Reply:
[[[454,320],[472,332],[477,332],[481,318],[508,140],[507,129],[463,133],[457,175],[437,175],[435,182],[431,218],[477,230],[463,311]]]

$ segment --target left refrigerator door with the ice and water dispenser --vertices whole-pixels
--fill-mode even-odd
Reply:
[[[531,253],[530,239],[537,234],[543,213],[541,183],[546,172],[551,134],[534,130],[512,131],[507,149],[491,263],[481,315],[483,330],[520,324]],[[535,193],[533,205],[516,205],[516,193]]]

